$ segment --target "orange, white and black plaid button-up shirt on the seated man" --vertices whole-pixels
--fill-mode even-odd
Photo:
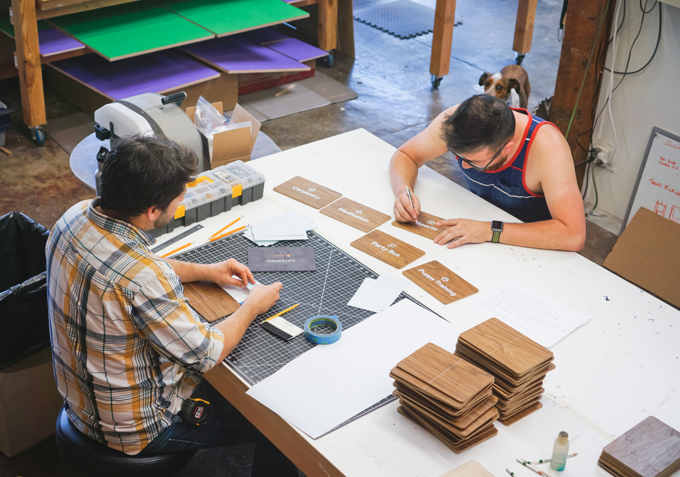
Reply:
[[[48,239],[54,375],[80,431],[137,454],[212,368],[224,337],[188,306],[150,235],[74,205]]]

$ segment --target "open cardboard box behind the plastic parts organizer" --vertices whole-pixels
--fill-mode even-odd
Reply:
[[[224,114],[221,102],[211,104],[220,111],[220,114]],[[193,121],[196,107],[188,107],[185,111],[187,116]],[[222,133],[214,135],[210,169],[224,166],[224,164],[234,162],[235,160],[242,160],[243,162],[250,160],[250,154],[255,146],[255,141],[260,132],[262,123],[253,118],[252,114],[245,111],[245,109],[237,103],[234,107],[234,113],[231,116],[231,122],[245,121],[250,121],[252,124],[250,131],[248,128],[238,128],[222,131]]]

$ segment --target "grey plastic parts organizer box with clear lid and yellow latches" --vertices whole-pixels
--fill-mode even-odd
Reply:
[[[150,230],[149,233],[158,237],[172,232],[175,227],[190,226],[207,217],[230,211],[235,205],[258,200],[264,192],[265,175],[245,162],[235,160],[201,173],[189,183],[174,219],[167,226]]]

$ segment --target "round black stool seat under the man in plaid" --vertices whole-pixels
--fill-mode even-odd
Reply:
[[[171,454],[127,455],[88,438],[61,408],[56,419],[56,447],[61,459],[84,476],[168,477],[194,457],[196,450]]]

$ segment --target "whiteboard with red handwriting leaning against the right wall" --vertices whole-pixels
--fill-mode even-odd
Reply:
[[[619,235],[645,207],[680,224],[680,137],[654,126]]]

